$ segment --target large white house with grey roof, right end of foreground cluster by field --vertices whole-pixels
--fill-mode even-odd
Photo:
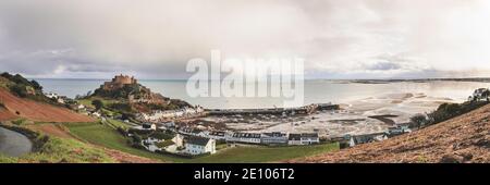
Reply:
[[[216,140],[206,137],[191,136],[185,139],[185,152],[193,156],[216,153]]]

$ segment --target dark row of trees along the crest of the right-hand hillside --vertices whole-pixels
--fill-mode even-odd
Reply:
[[[455,116],[465,114],[475,109],[478,109],[488,102],[486,101],[467,101],[464,103],[443,103],[439,106],[436,111],[428,114],[416,114],[411,118],[411,123],[414,127],[424,127],[437,123],[444,122]]]

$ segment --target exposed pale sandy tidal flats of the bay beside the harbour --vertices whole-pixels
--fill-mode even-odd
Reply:
[[[313,114],[255,116],[231,114],[210,115],[195,119],[193,125],[207,127],[224,125],[220,130],[233,132],[267,133],[319,133],[321,137],[340,137],[346,134],[363,135],[388,131],[389,127],[405,124],[417,113],[436,110],[441,103],[455,102],[450,98],[430,97],[425,94],[385,94],[348,102],[342,110],[317,111]],[[195,125],[199,122],[212,124]]]

